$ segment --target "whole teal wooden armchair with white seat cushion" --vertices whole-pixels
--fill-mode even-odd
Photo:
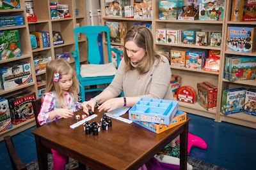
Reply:
[[[104,61],[103,63],[108,64],[100,64],[100,50],[98,46],[97,38],[101,32],[105,32],[107,43],[108,43],[108,61]],[[88,45],[88,63],[89,64],[80,64],[80,54],[79,54],[79,41],[77,38],[77,34],[80,33],[85,34],[87,38]],[[123,53],[116,48],[110,48],[110,38],[109,38],[109,27],[107,26],[84,26],[77,27],[74,29],[74,36],[76,41],[76,50],[72,51],[72,56],[76,62],[76,72],[77,78],[81,85],[80,88],[80,96],[81,100],[85,101],[85,93],[93,92],[98,90],[104,90],[105,88],[99,89],[84,89],[86,86],[90,85],[102,85],[111,83],[113,80],[116,68],[120,63],[120,54]],[[83,46],[83,48],[85,48]],[[111,60],[111,51],[116,53],[116,64]],[[104,58],[104,57],[103,57]]]

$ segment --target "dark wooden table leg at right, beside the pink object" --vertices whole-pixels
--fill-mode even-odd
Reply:
[[[188,122],[184,125],[184,131],[180,134],[180,169],[187,169],[188,162]]]

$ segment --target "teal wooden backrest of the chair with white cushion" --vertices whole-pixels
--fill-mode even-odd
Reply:
[[[108,62],[112,62],[111,60],[111,52],[110,52],[110,38],[109,38],[109,27],[107,26],[84,26],[84,27],[77,27],[74,29],[74,36],[75,36],[75,43],[76,43],[76,53],[77,57],[75,58],[76,62],[76,69],[77,72],[79,71],[78,68],[80,68],[80,54],[79,54],[79,40],[77,34],[85,34],[87,38],[87,44],[88,44],[88,62],[89,64],[100,64],[100,50],[98,45],[98,36],[101,32],[106,33],[106,38],[108,42]],[[80,75],[77,73],[77,75]]]

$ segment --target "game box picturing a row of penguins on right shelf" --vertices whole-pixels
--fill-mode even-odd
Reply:
[[[256,27],[228,27],[226,50],[253,53],[256,50]]]

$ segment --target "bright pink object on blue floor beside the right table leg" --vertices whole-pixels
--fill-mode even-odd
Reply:
[[[180,140],[178,140],[177,143],[180,143]],[[196,146],[205,150],[207,148],[207,143],[205,143],[204,139],[188,133],[188,155],[192,146]]]

